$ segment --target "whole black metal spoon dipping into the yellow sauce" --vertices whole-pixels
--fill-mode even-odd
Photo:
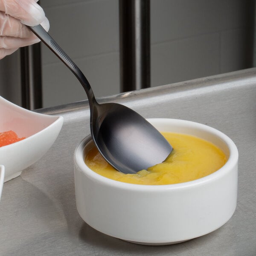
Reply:
[[[81,70],[41,25],[29,27],[74,73],[84,87],[90,105],[90,130],[99,152],[115,169],[136,173],[163,162],[172,146],[142,116],[124,105],[99,104]]]

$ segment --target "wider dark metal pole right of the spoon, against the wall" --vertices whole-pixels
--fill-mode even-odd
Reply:
[[[150,87],[150,0],[119,0],[121,91]]]

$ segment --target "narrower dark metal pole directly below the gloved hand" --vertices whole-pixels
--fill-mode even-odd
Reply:
[[[20,48],[21,104],[29,110],[42,108],[40,44]]]

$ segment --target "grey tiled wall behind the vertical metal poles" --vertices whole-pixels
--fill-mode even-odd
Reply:
[[[151,86],[251,66],[253,1],[151,0]],[[118,0],[42,0],[50,34],[97,97],[119,93]],[[18,53],[0,61],[0,95],[19,103]],[[9,63],[6,65],[6,63]],[[44,107],[86,99],[73,74],[42,46]],[[6,76],[12,74],[12,79]],[[15,75],[13,75],[15,73]],[[6,87],[15,87],[12,96]]]

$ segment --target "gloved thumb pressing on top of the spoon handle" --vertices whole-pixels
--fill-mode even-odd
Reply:
[[[36,26],[45,20],[44,10],[35,0],[0,0],[0,11],[28,26]]]

